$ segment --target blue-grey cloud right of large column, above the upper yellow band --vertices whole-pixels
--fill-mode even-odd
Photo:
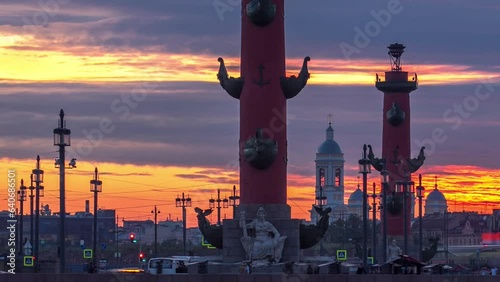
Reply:
[[[500,24],[500,7],[489,3],[486,8],[486,2],[473,1],[289,1],[288,54],[300,56],[313,45],[319,56],[344,58],[339,44],[347,43],[360,51],[352,59],[383,58],[389,43],[400,42],[412,64],[498,65],[500,33],[493,27]]]

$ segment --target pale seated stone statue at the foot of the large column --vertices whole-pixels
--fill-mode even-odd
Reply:
[[[266,211],[260,207],[257,218],[245,224],[245,212],[242,212],[240,226],[243,228],[241,243],[245,249],[247,260],[263,263],[279,262],[286,236],[280,236],[278,230],[265,220]],[[248,233],[250,230],[250,234]],[[255,264],[254,264],[255,265]]]

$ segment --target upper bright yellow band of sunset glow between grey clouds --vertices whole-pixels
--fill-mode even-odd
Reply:
[[[20,40],[9,36],[0,41],[6,45]],[[2,45],[0,45],[1,47]],[[33,51],[2,50],[0,79],[14,81],[57,82],[128,82],[200,81],[217,83],[217,58],[212,55],[142,54],[137,51],[102,53],[99,50]],[[230,75],[239,75],[239,58],[226,58]],[[20,63],[22,62],[22,63]],[[297,75],[302,59],[288,60],[288,75]],[[416,65],[419,80],[426,85],[477,83],[499,78],[500,73],[473,71],[466,66]],[[312,85],[373,85],[375,73],[388,70],[384,61],[314,59],[309,63]]]

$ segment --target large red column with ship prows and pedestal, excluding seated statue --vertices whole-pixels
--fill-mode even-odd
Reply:
[[[300,248],[310,247],[306,243],[311,240],[307,239],[317,238],[313,237],[316,233],[302,232],[300,220],[291,218],[291,208],[286,203],[286,102],[307,84],[310,59],[304,59],[298,76],[285,76],[284,3],[242,0],[241,77],[230,77],[224,60],[219,58],[220,84],[240,102],[240,205],[235,213],[239,219],[224,220],[223,234],[213,229],[205,233],[216,234],[215,239],[222,237],[226,262],[248,258],[241,241],[240,220],[255,217],[260,208],[266,211],[266,220],[279,230],[281,242],[286,238],[284,261],[297,261]],[[280,257],[281,254],[275,258],[279,261]]]

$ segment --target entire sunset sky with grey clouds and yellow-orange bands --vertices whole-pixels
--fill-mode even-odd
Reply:
[[[40,155],[41,202],[59,210],[52,131],[62,108],[72,130],[67,159],[78,159],[66,174],[67,211],[81,211],[93,198],[94,167],[103,181],[99,207],[116,209],[120,220],[152,219],[154,205],[161,220],[181,218],[174,199],[182,192],[202,208],[217,188],[230,196],[239,182],[239,104],[216,73],[224,57],[230,75],[239,76],[241,8],[232,3],[2,1],[0,181],[15,169],[18,181],[28,182]],[[380,156],[383,96],[374,81],[390,69],[386,47],[396,42],[407,46],[403,70],[418,73],[412,149],[416,156],[427,147],[419,171],[427,193],[437,175],[449,210],[500,209],[499,14],[496,0],[286,1],[289,74],[311,57],[308,86],[288,101],[293,217],[309,218],[328,114],[346,160],[346,200],[363,144]],[[436,132],[444,137],[429,142]],[[369,181],[378,184],[379,175]],[[6,208],[4,192],[0,210]],[[188,224],[196,224],[192,209]]]

